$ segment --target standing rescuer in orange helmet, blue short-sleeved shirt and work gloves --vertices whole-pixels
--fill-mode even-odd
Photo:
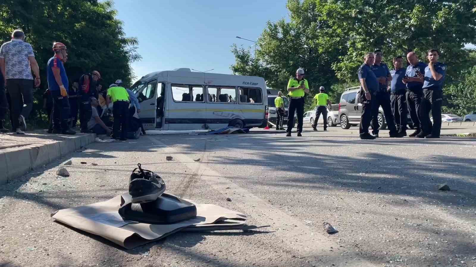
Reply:
[[[53,97],[53,134],[76,134],[69,128],[68,76],[63,63],[68,60],[68,52],[63,43],[53,44],[54,57],[48,60],[48,88]]]

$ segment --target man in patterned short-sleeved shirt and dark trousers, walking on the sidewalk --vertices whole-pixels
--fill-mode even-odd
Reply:
[[[24,42],[24,39],[23,31],[16,29],[11,35],[11,41],[0,47],[0,69],[11,98],[12,130],[17,134],[25,133],[23,132],[27,127],[25,117],[28,117],[33,107],[31,69],[35,74],[35,87],[40,86],[40,69],[33,48]]]

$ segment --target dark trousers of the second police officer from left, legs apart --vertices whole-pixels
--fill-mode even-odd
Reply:
[[[372,94],[372,133],[378,134],[378,107],[382,106],[385,115],[385,121],[387,123],[388,130],[390,134],[397,134],[397,127],[395,127],[395,122],[392,114],[392,107],[390,104],[390,95],[388,95],[387,91],[380,90],[378,92],[374,92]]]

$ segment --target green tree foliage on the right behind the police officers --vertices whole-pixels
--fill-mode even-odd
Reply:
[[[326,86],[334,97],[334,90],[357,80],[365,52],[382,49],[393,68],[393,57],[415,51],[427,61],[426,51],[437,48],[448,65],[449,86],[476,65],[472,51],[464,49],[476,43],[475,6],[466,0],[288,0],[290,21],[269,21],[258,38],[253,75],[285,89],[288,78],[303,67],[311,94]],[[251,74],[251,64],[242,61],[250,55],[241,50],[231,67],[234,73]]]

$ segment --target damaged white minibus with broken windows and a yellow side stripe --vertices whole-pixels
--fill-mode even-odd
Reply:
[[[189,68],[143,76],[131,90],[145,130],[206,130],[266,124],[262,77],[192,72]]]

